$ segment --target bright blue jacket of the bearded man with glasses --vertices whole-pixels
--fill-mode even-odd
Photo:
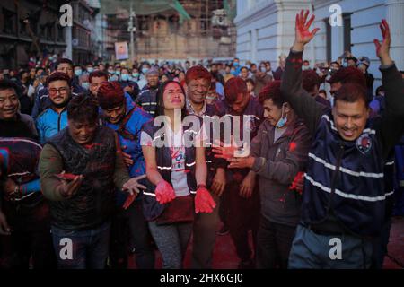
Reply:
[[[67,110],[59,114],[52,108],[45,109],[35,120],[35,126],[40,135],[40,144],[44,144],[67,126]]]

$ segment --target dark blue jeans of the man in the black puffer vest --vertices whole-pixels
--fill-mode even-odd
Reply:
[[[110,222],[92,230],[62,230],[52,226],[52,238],[59,269],[105,268]]]

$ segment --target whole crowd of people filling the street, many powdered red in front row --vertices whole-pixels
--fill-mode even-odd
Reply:
[[[133,253],[153,269],[157,249],[179,269],[192,244],[190,267],[208,269],[228,232],[241,269],[382,268],[404,213],[404,76],[384,20],[375,94],[368,57],[311,66],[313,20],[296,15],[274,71],[238,58],[3,70],[0,267],[125,269]],[[228,129],[247,154],[228,131],[215,140],[216,116],[239,119]]]

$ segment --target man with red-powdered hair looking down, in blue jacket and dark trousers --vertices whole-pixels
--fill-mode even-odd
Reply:
[[[127,106],[124,91],[117,82],[101,83],[97,99],[102,109],[102,124],[118,135],[129,176],[135,178],[144,175],[145,159],[140,145],[140,130],[152,117],[136,106]],[[118,195],[118,204],[121,205],[127,196],[122,192]],[[113,268],[127,268],[127,233],[123,232],[127,229],[130,245],[135,249],[136,267],[153,269],[152,237],[142,213],[141,196],[137,196],[126,210],[119,208],[113,219],[110,240],[110,264]]]

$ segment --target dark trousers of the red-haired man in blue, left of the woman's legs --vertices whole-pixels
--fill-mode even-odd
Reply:
[[[126,269],[128,248],[135,249],[137,269],[154,269],[152,236],[142,211],[142,202],[136,201],[127,210],[115,214],[110,230],[110,267]]]

